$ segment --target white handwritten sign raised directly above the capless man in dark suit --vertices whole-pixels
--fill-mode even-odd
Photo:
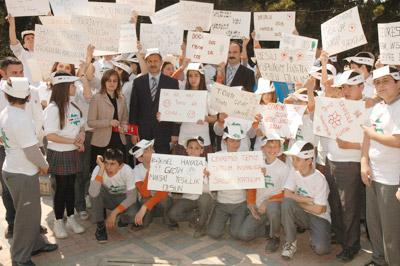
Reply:
[[[211,33],[242,39],[250,35],[251,12],[214,10],[211,20]]]

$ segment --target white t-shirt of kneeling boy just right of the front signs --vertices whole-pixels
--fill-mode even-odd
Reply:
[[[261,203],[271,196],[283,191],[286,178],[289,174],[289,167],[279,159],[275,159],[271,164],[264,164],[266,168],[265,188],[257,188],[256,205],[260,207]]]

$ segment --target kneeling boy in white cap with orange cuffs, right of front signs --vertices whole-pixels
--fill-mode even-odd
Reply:
[[[289,168],[277,157],[281,154],[283,139],[276,133],[269,133],[261,140],[261,149],[265,156],[265,188],[247,191],[247,205],[250,214],[242,224],[239,238],[250,241],[263,233],[269,221],[269,239],[265,251],[275,252],[279,248],[281,230],[281,202],[283,185]]]

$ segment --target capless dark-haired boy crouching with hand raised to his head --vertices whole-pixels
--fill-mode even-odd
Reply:
[[[119,226],[133,221],[136,211],[136,187],[132,168],[124,164],[124,154],[118,149],[107,149],[97,156],[97,166],[89,186],[92,203],[92,222],[97,224],[96,240],[107,242],[107,229],[113,229],[119,216]],[[104,209],[112,210],[104,223]]]

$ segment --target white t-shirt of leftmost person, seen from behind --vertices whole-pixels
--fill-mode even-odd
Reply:
[[[38,144],[32,119],[25,110],[7,106],[0,113],[0,134],[6,151],[3,170],[10,173],[35,175],[38,167],[25,156],[24,148]]]

